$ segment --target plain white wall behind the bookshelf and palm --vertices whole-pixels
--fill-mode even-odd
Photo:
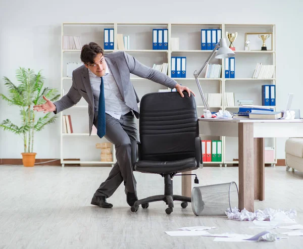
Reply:
[[[195,3],[197,2],[197,3]],[[43,69],[45,86],[60,89],[62,22],[162,22],[162,23],[266,23],[276,24],[277,108],[282,109],[288,92],[294,92],[293,109],[303,111],[301,54],[292,47],[303,39],[300,11],[303,1],[1,1],[0,3],[0,92],[7,93],[2,78],[13,82],[15,70]],[[107,3],[107,5],[103,4]],[[160,6],[160,7],[157,7]],[[212,13],[212,10],[216,10]],[[158,17],[157,17],[158,16]],[[296,42],[299,41],[299,42]],[[0,99],[0,122],[18,123],[19,112]],[[60,157],[60,121],[36,134],[37,158]],[[285,139],[277,139],[277,158],[284,158]],[[20,158],[21,138],[0,130],[0,158]]]

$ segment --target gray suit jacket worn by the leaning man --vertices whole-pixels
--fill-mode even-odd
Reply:
[[[171,89],[173,89],[177,84],[175,80],[171,79],[164,73],[144,66],[125,52],[114,52],[105,55],[104,57],[116,80],[125,104],[133,110],[136,118],[139,118],[137,103],[140,101],[132,83],[130,82],[130,73],[141,78],[155,81]],[[57,107],[57,112],[54,113],[58,114],[61,111],[76,105],[80,101],[81,97],[84,97],[88,103],[90,135],[94,120],[95,108],[92,89],[88,76],[88,69],[84,65],[73,71],[72,86],[66,95],[59,99],[59,101],[54,102]]]

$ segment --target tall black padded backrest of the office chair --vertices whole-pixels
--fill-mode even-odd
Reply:
[[[186,91],[145,94],[140,103],[139,160],[175,161],[195,157],[199,136],[194,96]]]

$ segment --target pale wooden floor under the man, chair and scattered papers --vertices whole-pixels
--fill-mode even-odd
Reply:
[[[277,242],[214,242],[212,237],[171,237],[165,231],[184,226],[216,226],[218,233],[257,234],[251,222],[226,217],[195,216],[189,206],[165,213],[164,203],[132,213],[121,185],[108,199],[113,209],[90,205],[99,184],[108,176],[107,167],[0,166],[0,249],[5,248],[302,248],[303,237]],[[238,168],[205,167],[196,170],[199,186],[235,181]],[[285,167],[266,168],[265,201],[258,209],[295,209],[303,224],[303,173]],[[163,194],[160,175],[135,172],[138,197]],[[195,186],[197,186],[195,184]],[[194,185],[193,185],[194,186]],[[174,193],[181,193],[181,178],[174,178]],[[276,229],[277,232],[286,232]]]

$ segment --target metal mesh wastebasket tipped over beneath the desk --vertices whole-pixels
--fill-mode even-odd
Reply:
[[[238,197],[235,182],[194,187],[191,208],[195,215],[226,215],[228,208],[238,208]]]

